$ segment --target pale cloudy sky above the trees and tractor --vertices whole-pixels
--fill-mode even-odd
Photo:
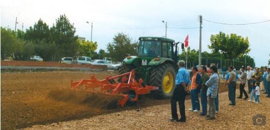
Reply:
[[[1,27],[23,30],[42,19],[51,27],[65,14],[76,28],[76,35],[98,43],[106,50],[118,32],[134,41],[139,36],[165,36],[183,42],[189,35],[191,49],[199,49],[199,21],[205,20],[246,24],[270,20],[270,0],[1,0]],[[89,21],[89,24],[86,22]],[[194,29],[178,29],[194,28]],[[265,66],[270,59],[270,22],[252,25],[222,25],[203,21],[202,52],[211,52],[211,34],[225,32],[248,36],[256,66]]]

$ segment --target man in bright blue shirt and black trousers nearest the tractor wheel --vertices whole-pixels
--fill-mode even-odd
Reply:
[[[185,106],[184,106],[184,100],[186,94],[189,92],[189,85],[190,85],[190,78],[189,73],[186,71],[184,61],[179,61],[178,66],[179,70],[176,75],[176,88],[173,93],[173,97],[171,99],[171,110],[172,110],[172,118],[169,119],[169,121],[176,121],[176,122],[185,122]],[[176,104],[179,104],[180,108],[180,115],[181,118],[178,119],[177,114],[177,106]]]

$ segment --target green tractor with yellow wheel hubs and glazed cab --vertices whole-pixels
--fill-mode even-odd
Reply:
[[[178,43],[164,37],[139,37],[137,56],[125,58],[119,74],[134,69],[136,80],[142,78],[144,85],[159,87],[153,91],[154,97],[172,97],[178,71]]]

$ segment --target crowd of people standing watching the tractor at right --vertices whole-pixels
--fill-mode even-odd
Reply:
[[[215,120],[215,115],[219,113],[219,87],[221,82],[220,74],[218,73],[218,68],[215,64],[210,65],[210,74],[208,73],[206,66],[201,66],[197,68],[193,66],[191,72],[193,76],[190,78],[189,73],[185,69],[185,62],[179,61],[179,70],[176,75],[176,89],[174,91],[173,97],[171,99],[171,110],[172,118],[169,121],[175,122],[185,122],[185,97],[188,93],[191,95],[191,105],[192,107],[188,110],[193,112],[200,112],[200,99],[201,98],[201,113],[200,116],[205,116],[206,120]],[[226,74],[225,71],[229,72]],[[259,67],[255,68],[253,71],[252,67],[247,66],[247,70],[242,66],[239,70],[238,75],[235,72],[233,66],[229,66],[227,69],[222,68],[223,78],[225,78],[225,84],[228,88],[228,99],[231,106],[236,105],[236,82],[240,83],[239,97],[242,99],[250,99],[248,101],[260,103],[260,91],[265,91],[266,97],[270,97],[270,68],[264,68],[260,71]],[[261,83],[262,82],[262,83]],[[247,83],[248,91],[245,90],[245,85]],[[260,88],[260,84],[262,84]],[[253,100],[254,99],[254,100]],[[180,108],[180,119],[177,114],[177,102],[179,102]],[[208,111],[207,111],[208,106]]]

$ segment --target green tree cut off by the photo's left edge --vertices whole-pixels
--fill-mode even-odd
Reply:
[[[1,27],[1,59],[7,57],[13,58],[13,52],[16,48],[16,37],[10,29]]]

